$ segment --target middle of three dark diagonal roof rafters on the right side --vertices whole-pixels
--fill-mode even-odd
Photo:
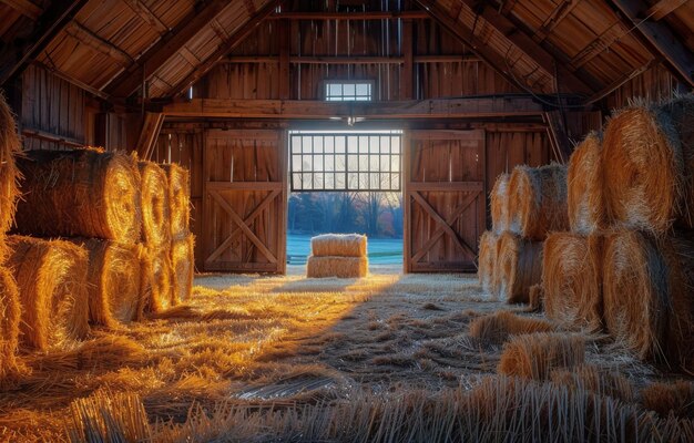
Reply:
[[[506,16],[499,13],[488,2],[478,0],[462,0],[472,11],[480,16],[503,37],[509,39],[519,50],[534,60],[535,63],[550,76],[558,76],[557,82],[563,83],[565,90],[574,93],[592,94],[594,89],[579,79],[573,72],[565,69],[564,64],[553,54],[540,47],[530,35],[519,29]],[[481,10],[481,11],[480,11]],[[557,73],[557,74],[555,74]]]

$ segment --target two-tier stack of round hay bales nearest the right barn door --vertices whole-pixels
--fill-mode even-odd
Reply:
[[[530,288],[541,281],[544,238],[568,227],[567,168],[517,166],[500,175],[491,215],[493,230],[480,239],[480,285],[510,303],[528,303]]]

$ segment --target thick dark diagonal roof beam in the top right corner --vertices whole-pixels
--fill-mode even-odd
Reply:
[[[647,18],[647,4],[642,0],[612,0],[625,19],[651,43],[654,55],[662,55],[678,76],[694,86],[694,54],[662,22]]]

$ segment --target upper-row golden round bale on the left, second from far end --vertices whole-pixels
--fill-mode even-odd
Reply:
[[[137,162],[142,184],[142,239],[161,248],[171,243],[171,207],[166,173],[152,162]]]

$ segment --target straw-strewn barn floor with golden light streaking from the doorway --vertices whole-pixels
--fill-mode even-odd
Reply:
[[[166,427],[170,418],[185,422],[193,403],[282,405],[473,384],[496,372],[500,347],[468,337],[468,323],[500,309],[540,316],[491,300],[476,276],[372,272],[197,277],[192,299],[161,318],[94,331],[69,352],[25,357],[28,373],[0,395],[0,440],[64,440],[71,402],[104,393],[136,393],[150,422]],[[589,363],[636,387],[662,377],[604,337],[588,337],[586,349]]]

